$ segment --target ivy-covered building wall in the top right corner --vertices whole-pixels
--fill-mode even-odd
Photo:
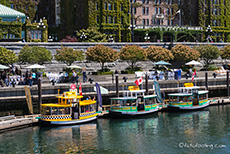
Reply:
[[[206,30],[210,25],[212,28],[211,37],[214,42],[222,39],[230,42],[230,0],[199,0],[199,25]],[[215,22],[214,22],[215,21]],[[207,33],[202,34],[203,40],[206,39]]]

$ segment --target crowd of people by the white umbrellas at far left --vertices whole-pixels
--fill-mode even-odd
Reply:
[[[30,85],[37,84],[38,78],[42,77],[42,72],[37,69],[26,70],[22,74],[21,70],[15,66],[10,69],[5,69],[0,73],[0,86],[1,87],[15,87],[15,85]]]

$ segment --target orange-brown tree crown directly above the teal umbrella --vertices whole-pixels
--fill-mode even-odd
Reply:
[[[168,49],[157,47],[157,46],[149,46],[146,49],[148,59],[151,61],[160,61],[160,60],[173,60],[174,56],[172,52]]]

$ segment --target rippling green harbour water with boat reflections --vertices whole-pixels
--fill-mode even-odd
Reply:
[[[0,134],[0,153],[227,154],[230,105],[138,119],[98,119],[63,127],[29,127]]]

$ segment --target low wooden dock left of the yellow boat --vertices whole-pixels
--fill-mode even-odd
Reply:
[[[0,117],[0,133],[8,130],[27,127],[38,122],[39,115],[25,115],[25,116],[4,116]]]

